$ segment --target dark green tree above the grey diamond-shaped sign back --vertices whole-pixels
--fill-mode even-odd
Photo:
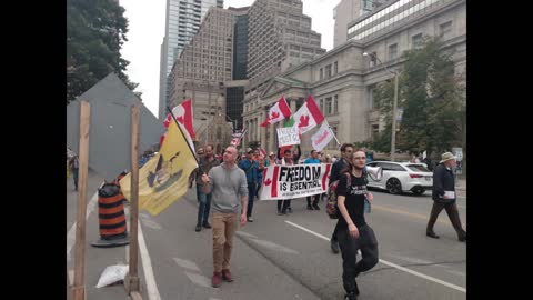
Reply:
[[[110,72],[131,90],[139,86],[124,73],[129,61],[120,54],[128,41],[123,13],[113,0],[67,0],[67,103]]]

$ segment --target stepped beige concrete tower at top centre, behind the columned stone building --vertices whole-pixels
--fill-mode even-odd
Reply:
[[[257,0],[249,11],[248,78],[261,80],[323,53],[301,0]]]

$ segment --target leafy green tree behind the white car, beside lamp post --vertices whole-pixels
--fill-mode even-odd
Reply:
[[[421,49],[404,53],[399,78],[399,107],[403,116],[396,127],[396,149],[410,152],[442,152],[463,144],[465,93],[461,78],[454,74],[451,53],[438,39],[426,39]],[[394,83],[384,82],[375,93],[375,103],[385,118],[386,130],[372,142],[378,151],[391,149],[391,120]],[[463,147],[464,148],[464,147]]]

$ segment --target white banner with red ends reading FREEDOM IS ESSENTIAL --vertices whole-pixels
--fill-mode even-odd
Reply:
[[[331,163],[269,166],[263,173],[261,200],[293,199],[328,191]]]

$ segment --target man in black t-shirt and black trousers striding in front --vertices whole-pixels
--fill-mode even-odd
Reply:
[[[374,231],[364,220],[364,201],[373,199],[366,190],[366,162],[364,151],[348,156],[348,168],[341,171],[336,187],[338,206],[341,217],[338,223],[338,240],[342,253],[342,281],[345,299],[358,299],[359,288],[355,278],[360,272],[372,269],[378,263],[378,240]],[[350,177],[350,178],[349,178]],[[356,262],[358,250],[362,258]]]

